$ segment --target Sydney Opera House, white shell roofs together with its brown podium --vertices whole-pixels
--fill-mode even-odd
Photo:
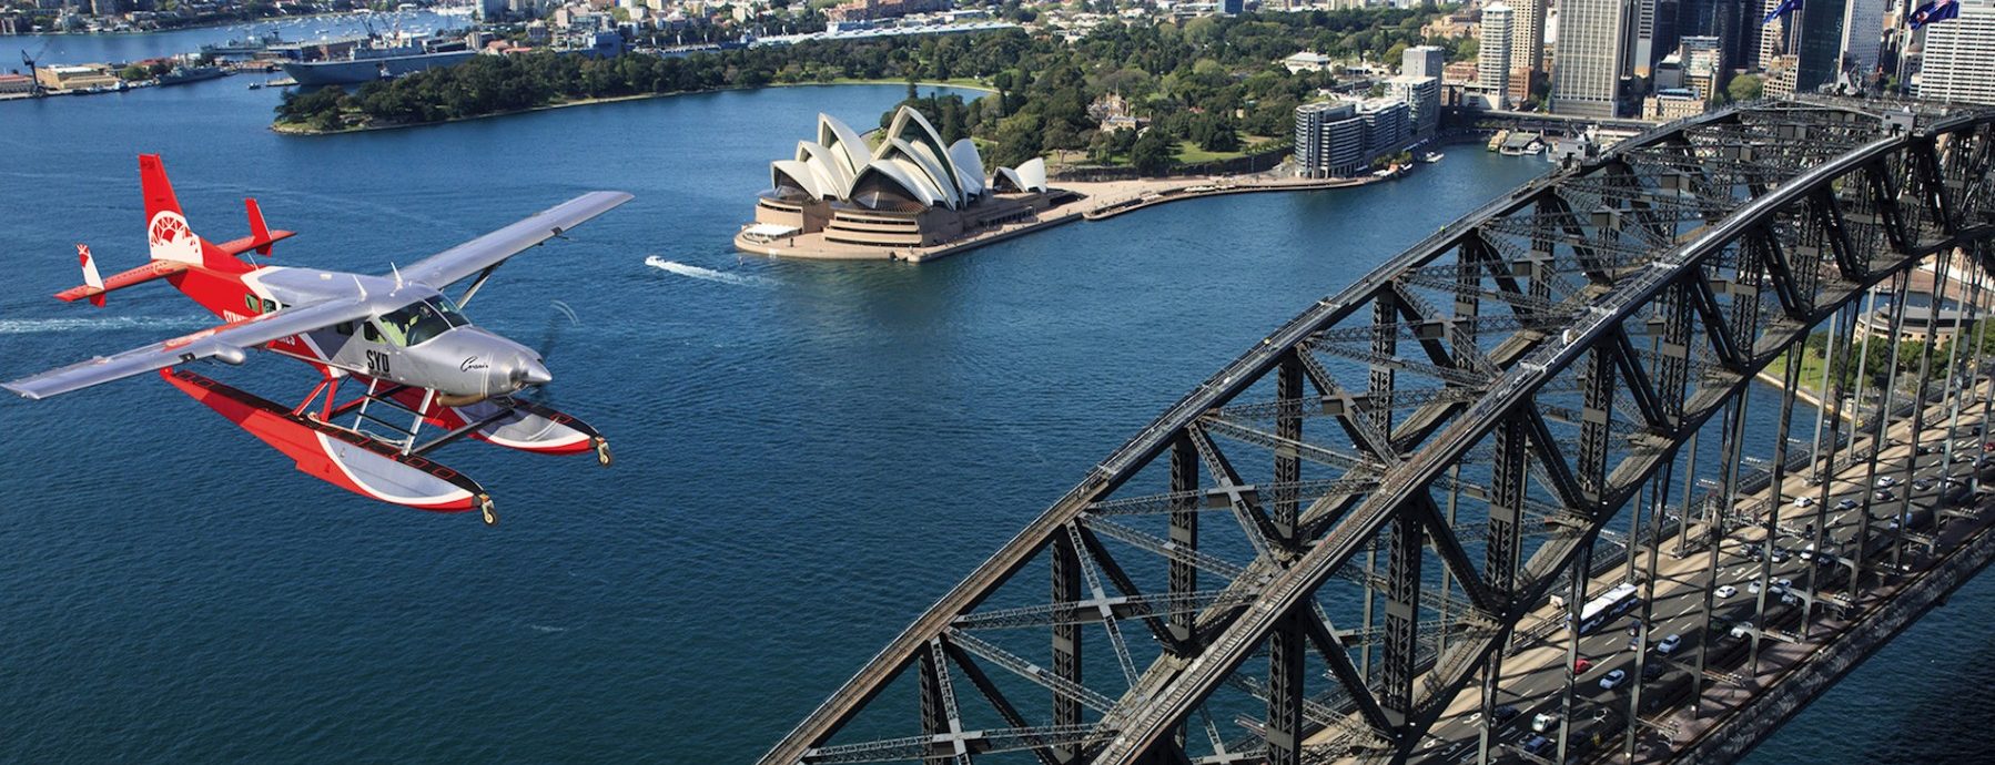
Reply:
[[[900,257],[1029,221],[1057,201],[1043,159],[986,175],[976,143],[944,145],[912,108],[894,114],[878,143],[820,114],[818,139],[770,163],[770,189],[734,243],[768,255]]]

